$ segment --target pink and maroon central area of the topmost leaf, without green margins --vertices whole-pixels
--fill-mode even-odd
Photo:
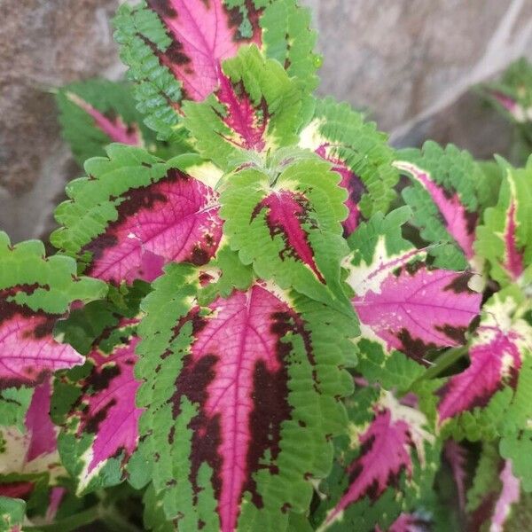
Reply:
[[[239,7],[222,0],[148,0],[168,28],[172,43],[160,61],[183,82],[184,98],[202,101],[220,82],[220,65],[246,43],[261,44],[258,12],[247,3],[253,35],[239,34]]]

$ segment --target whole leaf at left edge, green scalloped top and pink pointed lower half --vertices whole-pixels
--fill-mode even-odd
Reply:
[[[47,258],[37,240],[12,246],[0,232],[0,387],[35,386],[53,371],[82,364],[52,329],[72,301],[105,293],[103,283],[76,276],[72,259]]]

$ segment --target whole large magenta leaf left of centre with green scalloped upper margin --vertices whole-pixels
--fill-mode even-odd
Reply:
[[[196,155],[163,163],[127,146],[107,151],[108,160],[87,163],[90,177],[58,207],[65,227],[52,234],[54,245],[115,285],[152,281],[168,262],[207,263],[222,238],[214,190],[220,170]]]

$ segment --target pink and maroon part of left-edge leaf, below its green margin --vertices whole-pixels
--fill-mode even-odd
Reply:
[[[0,386],[35,386],[51,372],[83,363],[73,348],[53,339],[57,319],[6,301],[0,292]]]

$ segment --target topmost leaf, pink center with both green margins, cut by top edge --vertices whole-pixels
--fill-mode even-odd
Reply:
[[[179,135],[183,102],[217,90],[223,61],[250,44],[301,88],[317,86],[316,35],[295,0],[148,0],[123,5],[114,24],[121,58],[138,83],[138,108],[163,138]]]

